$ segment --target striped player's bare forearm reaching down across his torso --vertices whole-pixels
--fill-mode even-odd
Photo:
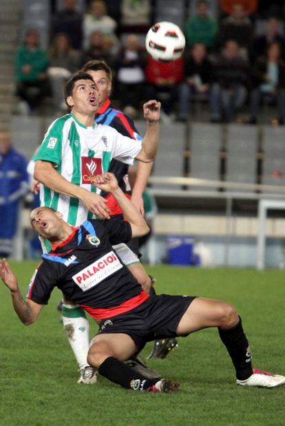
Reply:
[[[78,198],[89,211],[109,219],[108,213],[110,210],[105,204],[105,198],[68,182],[56,171],[56,169],[54,169],[52,162],[36,160],[34,166],[34,179],[41,182],[45,187],[52,189],[52,191],[68,195],[69,197]]]

